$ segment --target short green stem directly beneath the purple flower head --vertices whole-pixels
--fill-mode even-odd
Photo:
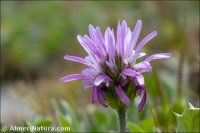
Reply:
[[[117,110],[119,116],[120,133],[125,133],[126,130],[126,109],[120,108]]]

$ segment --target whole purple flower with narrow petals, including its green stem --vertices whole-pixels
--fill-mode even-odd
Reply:
[[[104,107],[111,106],[118,111],[121,132],[126,131],[126,109],[134,98],[141,97],[139,112],[145,105],[147,94],[142,73],[152,71],[150,61],[171,57],[170,53],[159,53],[136,62],[146,55],[141,52],[144,45],[157,35],[157,32],[153,31],[137,43],[141,27],[142,22],[138,20],[131,32],[126,21],[122,21],[122,24],[118,23],[116,33],[108,27],[103,36],[99,27],[89,25],[90,36],[77,36],[88,56],[64,56],[64,59],[84,64],[88,68],[80,74],[65,76],[60,81],[82,79],[84,89],[92,87],[92,103],[98,100]]]

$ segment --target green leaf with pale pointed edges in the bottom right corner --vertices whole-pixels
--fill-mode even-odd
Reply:
[[[200,109],[188,103],[188,107],[180,115],[174,113],[177,118],[178,126],[176,132],[200,132]]]

